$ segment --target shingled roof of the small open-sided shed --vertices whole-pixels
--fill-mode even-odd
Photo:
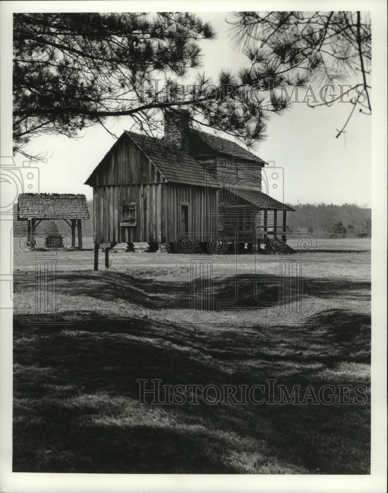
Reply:
[[[21,193],[18,197],[18,219],[89,219],[83,194]]]

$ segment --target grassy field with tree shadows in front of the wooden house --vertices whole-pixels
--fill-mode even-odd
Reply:
[[[323,240],[303,254],[302,313],[288,295],[280,314],[279,256],[214,255],[213,284],[194,295],[189,255],[119,245],[93,272],[90,239],[84,247],[58,253],[58,315],[28,318],[35,259],[53,252],[15,242],[15,472],[369,473],[370,240]],[[201,300],[213,312],[193,314]],[[363,385],[367,400],[140,404],[139,379],[273,379],[302,393]]]

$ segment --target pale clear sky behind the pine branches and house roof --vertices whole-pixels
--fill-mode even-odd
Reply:
[[[216,76],[221,69],[236,72],[247,59],[241,47],[231,46],[230,27],[225,22],[230,15],[227,12],[197,14],[209,20],[217,31],[216,40],[201,42],[204,55],[201,70],[209,76]],[[254,150],[262,159],[281,168],[284,188],[268,191],[269,195],[294,205],[325,202],[370,207],[370,116],[355,112],[346,134],[335,138],[351,107],[336,104],[312,109],[298,102],[286,113],[271,118],[267,140]],[[122,118],[119,123],[110,122],[109,128],[119,136],[131,126],[129,118]],[[85,193],[88,199],[92,198],[92,189],[84,182],[115,140],[100,126],[86,129],[82,136],[78,140],[64,136],[31,139],[26,149],[44,151],[49,156],[47,163],[32,164],[39,168],[40,192]]]

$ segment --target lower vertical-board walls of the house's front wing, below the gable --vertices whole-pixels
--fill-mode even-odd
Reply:
[[[122,204],[136,203],[136,226],[121,226]],[[181,230],[181,205],[188,206],[188,231],[195,241],[217,232],[215,189],[173,183],[94,187],[94,235],[98,243],[171,243]]]

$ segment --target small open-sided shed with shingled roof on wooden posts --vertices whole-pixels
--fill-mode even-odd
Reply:
[[[82,219],[90,219],[84,194],[21,193],[18,196],[18,220],[27,220],[27,243],[34,244],[35,228],[44,220],[63,219],[71,228],[71,247],[75,247],[78,230],[78,249],[82,250]]]

